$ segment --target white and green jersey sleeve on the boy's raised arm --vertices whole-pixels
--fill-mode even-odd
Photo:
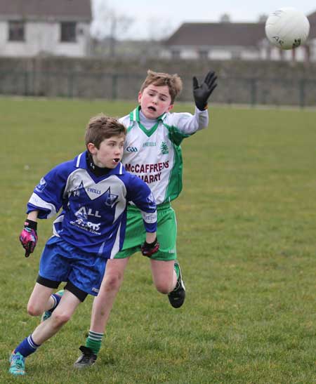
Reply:
[[[184,112],[172,113],[169,116],[166,124],[169,126],[171,140],[177,145],[180,145],[183,138],[187,138],[209,125],[209,112],[200,111],[197,107],[195,107],[195,114]]]

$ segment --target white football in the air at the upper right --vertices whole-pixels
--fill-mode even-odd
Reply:
[[[265,22],[265,34],[274,46],[293,49],[304,44],[310,32],[308,18],[295,8],[279,8]]]

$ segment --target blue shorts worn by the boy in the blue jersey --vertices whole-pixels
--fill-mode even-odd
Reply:
[[[37,282],[50,288],[67,282],[71,287],[69,290],[83,301],[86,296],[84,293],[98,295],[106,263],[107,258],[81,251],[60,237],[53,236],[41,254]]]

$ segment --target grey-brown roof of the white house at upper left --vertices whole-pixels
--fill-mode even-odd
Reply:
[[[91,21],[90,0],[0,0],[0,20]]]

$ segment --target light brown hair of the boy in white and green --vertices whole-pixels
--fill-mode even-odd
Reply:
[[[140,87],[140,92],[143,93],[144,89],[150,84],[154,86],[168,86],[171,96],[171,104],[173,104],[176,97],[182,91],[182,80],[178,74],[168,74],[164,72],[154,72],[148,69],[147,77]]]

